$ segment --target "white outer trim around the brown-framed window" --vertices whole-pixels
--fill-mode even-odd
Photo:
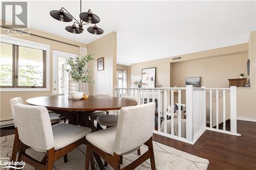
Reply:
[[[50,45],[24,40],[7,35],[0,36],[1,42],[46,51],[46,88],[0,88],[0,91],[50,91]]]

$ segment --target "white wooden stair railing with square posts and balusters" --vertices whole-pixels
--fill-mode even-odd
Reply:
[[[215,129],[212,128],[212,115],[215,115],[216,123],[219,123],[219,112],[212,113],[212,90],[229,90],[230,89],[230,128],[231,131],[226,131],[225,128]],[[174,91],[178,91],[177,95]],[[182,92],[183,91],[183,92]],[[185,93],[184,93],[185,91]],[[210,107],[210,127],[206,127],[206,91],[209,91],[209,107]],[[237,119],[236,119],[236,87],[231,88],[194,88],[192,85],[186,87],[160,87],[160,88],[116,88],[115,96],[122,98],[124,95],[136,97],[138,104],[157,101],[157,110],[155,117],[155,130],[154,133],[167,136],[173,139],[184,141],[194,144],[197,139],[207,130],[228,133],[232,135],[237,134]],[[125,94],[124,94],[125,92]],[[183,94],[183,95],[182,95]],[[184,95],[185,94],[185,95]],[[223,111],[225,110],[225,92],[222,95]],[[182,98],[183,96],[183,98]],[[216,100],[218,108],[219,98]],[[178,111],[174,113],[175,104],[178,105]],[[181,104],[186,104],[186,118],[181,117],[183,114]],[[217,109],[219,110],[219,109]],[[225,111],[223,114],[226,114]],[[168,117],[171,117],[168,119]],[[226,119],[225,116],[223,120]],[[224,123],[225,124],[225,123]],[[218,125],[216,124],[218,127]],[[224,125],[225,127],[225,125]]]

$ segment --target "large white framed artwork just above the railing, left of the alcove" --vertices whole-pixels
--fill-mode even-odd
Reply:
[[[141,72],[141,87],[155,88],[156,86],[156,67],[143,68]]]

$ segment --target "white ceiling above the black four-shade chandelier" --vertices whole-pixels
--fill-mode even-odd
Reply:
[[[100,36],[73,35],[65,30],[72,22],[61,26],[49,14],[65,7],[79,18],[79,5],[30,2],[30,27],[92,42]],[[256,30],[255,1],[83,1],[82,12],[88,9],[100,17],[103,35],[117,33],[117,63],[124,65],[248,42],[249,32]]]

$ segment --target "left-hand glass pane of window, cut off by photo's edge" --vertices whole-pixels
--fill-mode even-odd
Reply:
[[[12,44],[1,42],[0,86],[12,86]]]

